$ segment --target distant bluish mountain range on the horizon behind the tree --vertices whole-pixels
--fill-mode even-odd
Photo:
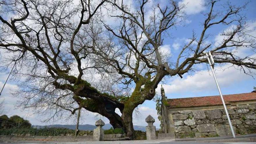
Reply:
[[[42,125],[33,125],[33,127],[36,128],[44,128],[44,127],[61,127],[61,128],[67,128],[67,129],[76,129],[76,125],[47,125],[47,126],[42,126]],[[112,125],[110,124],[105,124],[102,128],[103,129],[110,129],[112,127]],[[85,131],[91,131],[93,129],[95,129],[96,126],[95,125],[79,125],[78,129],[79,130],[85,130]],[[134,125],[134,130],[140,130],[140,131],[146,131],[146,127],[145,126],[138,126],[138,125]],[[157,129],[158,130],[158,129]]]

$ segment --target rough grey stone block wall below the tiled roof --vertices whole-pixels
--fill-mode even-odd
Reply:
[[[256,133],[256,104],[228,109],[236,134]],[[232,135],[224,109],[172,111],[176,138]]]

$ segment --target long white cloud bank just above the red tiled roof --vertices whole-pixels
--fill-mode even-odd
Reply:
[[[240,81],[246,81],[252,79],[251,76],[243,74],[234,67],[230,67],[230,64],[222,67],[214,67],[218,83],[221,87],[227,87]],[[225,69],[226,68],[226,69]],[[223,71],[223,69],[225,69]],[[157,93],[160,93],[161,84],[157,87]],[[176,78],[169,84],[163,84],[163,88],[166,93],[183,93],[186,92],[204,92],[207,90],[216,90],[216,84],[212,76],[211,71],[202,70],[192,76]]]

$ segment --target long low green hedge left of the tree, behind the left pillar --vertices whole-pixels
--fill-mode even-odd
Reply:
[[[75,130],[66,129],[66,128],[10,128],[10,129],[0,129],[0,135],[26,135],[30,134],[31,136],[66,136],[74,135]],[[92,131],[79,131],[78,135],[92,135]]]

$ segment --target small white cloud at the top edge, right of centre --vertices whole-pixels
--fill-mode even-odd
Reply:
[[[179,4],[184,4],[186,6],[184,12],[187,15],[197,14],[202,10],[205,10],[205,7],[203,6],[204,3],[205,0],[182,0],[179,2]]]

